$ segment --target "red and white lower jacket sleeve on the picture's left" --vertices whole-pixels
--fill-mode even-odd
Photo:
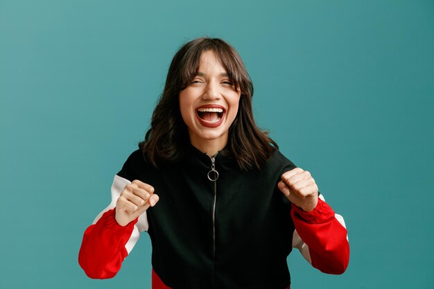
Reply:
[[[90,278],[114,277],[121,269],[122,261],[137,243],[140,231],[148,230],[146,212],[125,227],[114,218],[116,200],[127,184],[130,184],[128,179],[119,175],[114,177],[112,202],[87,227],[83,236],[78,263]]]

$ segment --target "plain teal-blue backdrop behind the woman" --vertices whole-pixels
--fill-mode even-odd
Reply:
[[[0,1],[0,288],[150,288],[142,234],[88,279],[86,227],[184,42],[222,37],[254,111],[345,217],[351,259],[293,288],[434,288],[434,1]]]

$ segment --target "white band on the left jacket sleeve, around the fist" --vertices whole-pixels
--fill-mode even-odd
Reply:
[[[123,189],[125,189],[125,186],[127,186],[128,184],[131,184],[128,179],[119,177],[119,175],[114,176],[112,184],[112,202],[110,202],[108,207],[105,208],[101,213],[99,213],[98,216],[96,216],[92,224],[95,224],[101,218],[101,216],[103,216],[103,213],[116,207],[116,202],[119,199],[119,196],[121,195]],[[136,245],[137,240],[139,240],[140,232],[148,231],[148,228],[148,217],[146,216],[146,212],[144,212],[141,214],[141,216],[139,216],[139,220],[134,225],[134,229],[132,230],[130,239],[128,239],[128,242],[125,244],[125,249],[127,249],[128,254],[130,254],[132,248],[134,247],[134,245]]]

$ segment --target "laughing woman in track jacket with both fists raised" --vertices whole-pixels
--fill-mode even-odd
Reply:
[[[152,242],[153,289],[289,288],[293,247],[322,272],[345,271],[342,217],[257,128],[252,94],[223,40],[177,51],[145,140],[85,231],[78,261],[89,277],[114,277],[141,231]]]

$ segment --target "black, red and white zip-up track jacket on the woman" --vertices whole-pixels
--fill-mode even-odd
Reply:
[[[293,168],[279,150],[245,172],[224,151],[209,157],[189,146],[182,161],[157,169],[137,150],[114,177],[112,202],[85,231],[80,266],[91,278],[114,277],[148,231],[153,289],[289,288],[293,247],[313,267],[341,274],[349,261],[345,223],[322,195],[311,212],[288,201],[277,183]],[[152,185],[159,202],[122,227],[114,207],[134,179]]]

